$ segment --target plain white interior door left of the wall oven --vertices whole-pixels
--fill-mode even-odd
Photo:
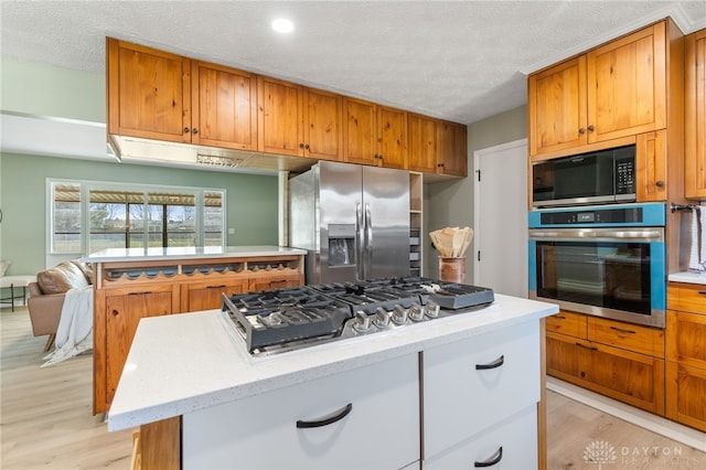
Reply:
[[[473,284],[526,298],[527,139],[475,151],[474,168]]]

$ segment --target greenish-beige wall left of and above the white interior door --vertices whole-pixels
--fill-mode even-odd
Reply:
[[[527,137],[527,107],[492,116],[468,126],[468,178],[450,180],[425,186],[425,225],[426,233],[447,226],[473,226],[473,152],[501,143],[512,142]],[[428,277],[439,276],[439,252],[431,248],[427,241],[425,256],[425,274]],[[466,252],[466,280],[473,281],[473,244]]]

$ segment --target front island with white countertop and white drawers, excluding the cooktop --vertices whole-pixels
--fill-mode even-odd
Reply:
[[[557,311],[496,295],[474,311],[261,359],[220,310],[147,318],[108,428],[140,426],[142,468],[536,468],[539,327]]]

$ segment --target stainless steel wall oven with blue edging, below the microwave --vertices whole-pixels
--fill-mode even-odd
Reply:
[[[664,328],[662,203],[530,212],[530,297]]]

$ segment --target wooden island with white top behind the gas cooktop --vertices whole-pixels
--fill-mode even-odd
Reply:
[[[279,246],[111,248],[94,270],[94,414],[110,408],[140,319],[221,307],[221,295],[304,282],[306,250]]]

